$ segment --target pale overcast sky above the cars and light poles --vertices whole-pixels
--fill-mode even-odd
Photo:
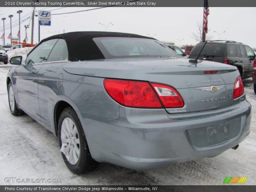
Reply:
[[[36,8],[36,10],[45,8]],[[46,8],[45,10],[52,10]],[[91,8],[63,8],[52,11],[53,13],[72,12]],[[32,11],[30,7],[0,8],[0,18],[5,17],[5,28],[9,28],[12,14],[12,22],[19,19],[18,10],[22,10],[21,17]],[[234,40],[256,47],[256,7],[209,7],[208,35],[213,39]],[[175,44],[196,44],[191,38],[192,32],[197,31],[197,22],[202,23],[203,7],[108,7],[99,10],[79,12],[73,14],[52,15],[52,26],[41,26],[41,40],[45,37],[58,33],[71,31],[106,31],[106,28],[99,23],[108,25],[112,22],[107,31],[135,33],[144,36],[152,36],[161,41],[171,41]],[[24,25],[21,24],[21,40],[25,36]],[[3,30],[3,21],[0,20],[0,30]],[[12,28],[12,35],[17,36],[19,26]],[[216,32],[213,32],[216,31]],[[226,31],[223,33],[223,31]],[[0,31],[1,35],[3,31]],[[5,31],[5,43],[10,29]],[[148,35],[149,34],[149,35]],[[156,34],[156,35],[155,35]],[[28,29],[30,43],[31,28]],[[180,40],[177,40],[180,39]],[[182,40],[184,39],[184,40]],[[0,41],[2,44],[2,41]],[[38,42],[38,19],[35,19],[34,43]]]

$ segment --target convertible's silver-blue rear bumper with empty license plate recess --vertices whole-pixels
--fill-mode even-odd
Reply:
[[[81,116],[96,161],[142,170],[216,156],[236,146],[250,132],[251,105],[244,97],[236,105],[207,112],[167,114],[164,109],[120,106],[116,120]],[[216,126],[227,123],[231,136],[209,136],[213,130],[220,131]],[[236,134],[232,135],[234,124]]]

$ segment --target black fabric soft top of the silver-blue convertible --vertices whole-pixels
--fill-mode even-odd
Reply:
[[[100,49],[92,40],[95,37],[133,37],[133,38],[147,38],[151,37],[140,36],[129,33],[118,32],[103,32],[103,31],[78,31],[69,32],[59,35],[54,35],[43,39],[40,44],[49,39],[61,38],[64,39],[68,46],[68,56],[70,61],[83,60],[98,60],[105,59]]]

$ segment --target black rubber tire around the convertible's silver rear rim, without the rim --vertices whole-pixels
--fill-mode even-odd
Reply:
[[[76,164],[70,164],[63,152],[61,152],[62,158],[67,165],[68,169],[76,174],[83,174],[86,172],[93,171],[96,169],[99,165],[98,162],[94,161],[92,159],[92,156],[90,154],[90,150],[88,148],[88,144],[85,138],[84,130],[82,127],[82,124],[73,108],[65,108],[59,118],[59,124],[58,124],[58,138],[59,138],[59,144],[60,144],[60,149],[62,147],[61,143],[61,125],[62,122],[64,121],[65,118],[69,117],[75,124],[77,128],[77,134],[79,137],[80,141],[80,156]]]

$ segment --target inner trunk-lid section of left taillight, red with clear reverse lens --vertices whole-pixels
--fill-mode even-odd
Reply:
[[[169,85],[151,83],[165,108],[180,108],[184,101],[176,89]]]

